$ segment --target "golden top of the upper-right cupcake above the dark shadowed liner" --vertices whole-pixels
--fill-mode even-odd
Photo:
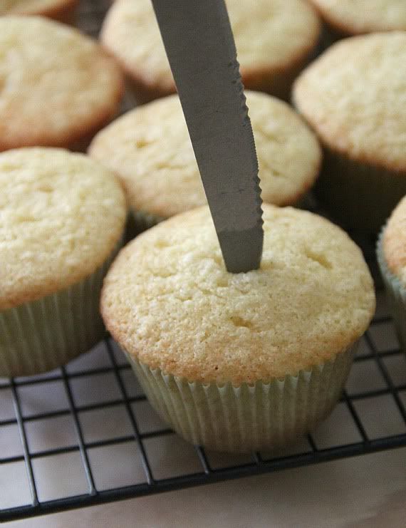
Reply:
[[[406,171],[406,32],[336,43],[301,73],[293,99],[331,150]]]

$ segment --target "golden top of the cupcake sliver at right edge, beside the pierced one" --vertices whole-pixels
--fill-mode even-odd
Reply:
[[[390,215],[382,239],[385,262],[406,288],[406,197]]]

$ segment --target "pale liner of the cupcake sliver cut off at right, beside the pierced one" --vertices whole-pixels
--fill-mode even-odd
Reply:
[[[406,288],[402,285],[402,282],[397,276],[392,274],[392,271],[390,271],[387,266],[382,248],[384,231],[385,229],[382,229],[376,247],[378,266],[382,275],[383,284],[385,285],[390,311],[395,321],[395,328],[400,341],[400,346],[403,351],[406,351]]]

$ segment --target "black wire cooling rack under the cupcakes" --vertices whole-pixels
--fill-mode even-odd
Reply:
[[[83,1],[82,29],[95,36],[108,4]],[[373,243],[362,245],[378,277]],[[90,356],[89,364],[82,356],[46,375],[0,379],[0,521],[406,446],[406,356],[379,281],[377,316],[340,403],[313,435],[283,452],[219,455],[189,446],[149,408],[110,338]],[[38,443],[41,428],[51,442]]]

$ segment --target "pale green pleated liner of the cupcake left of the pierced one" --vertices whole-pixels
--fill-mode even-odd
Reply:
[[[0,311],[0,377],[51,371],[103,338],[100,291],[119,247],[78,284]]]

